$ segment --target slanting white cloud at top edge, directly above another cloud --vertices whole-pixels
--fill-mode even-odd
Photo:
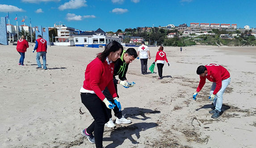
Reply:
[[[87,4],[86,0],[70,0],[69,2],[66,2],[59,6],[59,10],[65,10],[65,9],[77,9],[80,7],[86,7]]]

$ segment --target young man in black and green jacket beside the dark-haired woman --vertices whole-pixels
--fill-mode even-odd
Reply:
[[[137,52],[134,48],[128,48],[127,50],[123,50],[123,53],[121,55],[121,57],[115,62],[115,68],[114,68],[114,74],[113,74],[113,82],[114,82],[114,86],[118,95],[118,86],[117,84],[120,84],[122,86],[124,86],[125,88],[129,88],[129,87],[133,87],[135,85],[135,82],[128,82],[127,78],[126,78],[126,73],[128,70],[128,66],[129,64],[135,59],[137,58]],[[118,75],[118,79],[116,79],[115,76]],[[114,115],[117,117],[116,119],[116,123],[117,124],[129,124],[131,123],[131,120],[126,119],[123,115],[122,115],[122,111],[121,111],[121,107],[120,109],[118,108],[118,104],[115,103],[115,101],[112,98],[112,95],[109,92],[109,89],[106,88],[103,91],[103,94],[106,96],[106,98],[112,102],[113,104],[116,105],[116,107],[113,108],[114,111]],[[119,98],[119,96],[118,96]],[[111,111],[110,113],[110,117],[112,117],[111,115]],[[112,128],[115,126],[115,124],[113,123],[112,119],[109,119],[109,122],[105,124],[107,127]]]

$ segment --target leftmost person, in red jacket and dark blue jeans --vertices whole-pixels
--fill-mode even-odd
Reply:
[[[29,42],[25,39],[25,36],[22,35],[21,39],[17,41],[17,51],[20,53],[21,58],[19,61],[19,65],[24,66],[25,52],[29,48]]]

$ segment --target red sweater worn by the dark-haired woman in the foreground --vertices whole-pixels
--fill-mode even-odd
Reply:
[[[99,58],[95,58],[86,67],[84,73],[84,89],[93,90],[95,94],[103,100],[106,97],[103,95],[102,91],[105,90],[107,86],[113,98],[117,97],[113,82],[114,65],[113,62],[109,65],[106,60],[101,62]]]

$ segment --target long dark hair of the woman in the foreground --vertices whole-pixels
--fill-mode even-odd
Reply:
[[[104,51],[102,53],[97,54],[97,58],[99,58],[102,62],[109,56],[109,53],[116,52],[121,48],[121,54],[124,50],[123,46],[117,41],[111,41],[108,45],[106,45]]]

